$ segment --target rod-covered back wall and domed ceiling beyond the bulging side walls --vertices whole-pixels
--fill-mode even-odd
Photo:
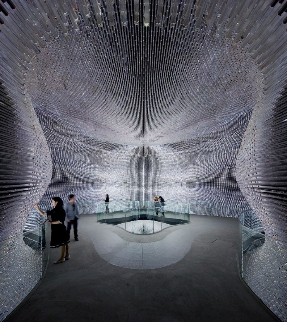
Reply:
[[[86,201],[106,193],[128,200],[162,194],[191,200],[195,213],[237,216],[245,209],[235,179],[237,151],[263,91],[252,59],[198,22],[203,7],[193,7],[183,29],[184,3],[175,27],[166,3],[160,28],[151,3],[145,28],[134,24],[127,3],[127,25],[114,6],[114,27],[103,2],[98,28],[93,10],[82,19],[78,4],[62,16],[57,7],[53,23],[64,19],[67,26],[58,26],[64,30],[27,73],[26,91],[54,166],[42,202],[71,190]],[[77,28],[70,15],[79,19]]]

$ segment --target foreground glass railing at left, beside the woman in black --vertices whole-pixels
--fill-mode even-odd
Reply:
[[[47,223],[43,223],[0,242],[0,322],[23,301],[44,274],[49,258],[46,228]]]

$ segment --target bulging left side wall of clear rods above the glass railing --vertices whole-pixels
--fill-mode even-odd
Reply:
[[[3,30],[0,43],[1,241],[23,232],[32,203],[42,197],[50,183],[52,160],[39,120],[23,90],[27,64],[21,61],[21,48],[16,48],[13,36],[4,35]],[[34,225],[37,223],[42,223],[39,216],[34,219]]]

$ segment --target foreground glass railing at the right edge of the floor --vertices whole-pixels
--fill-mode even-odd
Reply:
[[[286,258],[287,243],[266,236],[259,228],[244,226],[245,214],[239,216],[242,236],[238,264],[242,279],[264,304],[282,321],[287,321]]]

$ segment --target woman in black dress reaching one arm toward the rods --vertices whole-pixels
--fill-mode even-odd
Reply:
[[[66,213],[63,208],[63,201],[60,197],[52,199],[52,210],[42,211],[38,204],[33,204],[34,208],[42,216],[48,216],[48,222],[51,223],[51,248],[61,247],[61,256],[54,264],[62,263],[70,259],[69,255],[69,236],[67,234],[66,226],[64,224]],[[51,219],[49,219],[51,217]]]

